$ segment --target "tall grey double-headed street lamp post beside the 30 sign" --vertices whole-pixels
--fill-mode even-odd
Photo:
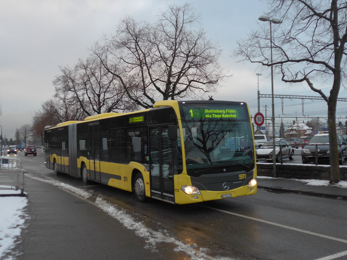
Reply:
[[[273,147],[273,177],[276,177],[276,142],[275,142],[275,104],[273,101],[273,66],[272,66],[272,29],[271,29],[271,24],[280,24],[282,23],[282,20],[272,18],[270,19],[267,16],[259,16],[258,18],[261,21],[268,21],[270,22],[270,52],[271,52],[271,101],[272,101],[272,147]]]

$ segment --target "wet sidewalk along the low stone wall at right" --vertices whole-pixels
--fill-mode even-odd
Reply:
[[[258,188],[273,191],[293,192],[328,198],[342,198],[347,200],[347,188],[307,185],[305,180],[293,180],[283,178],[257,178]]]

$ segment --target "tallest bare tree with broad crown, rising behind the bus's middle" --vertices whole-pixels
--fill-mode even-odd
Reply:
[[[151,25],[126,16],[117,35],[94,46],[104,67],[137,105],[215,92],[225,77],[221,50],[205,38],[190,4],[168,5]]]

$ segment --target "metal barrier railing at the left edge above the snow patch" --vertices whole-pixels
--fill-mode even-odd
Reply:
[[[24,196],[24,172],[20,171],[21,168],[20,159],[0,156],[0,195],[7,195],[1,194],[1,190],[20,190],[19,195]]]

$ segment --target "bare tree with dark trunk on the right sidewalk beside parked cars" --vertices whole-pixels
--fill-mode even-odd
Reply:
[[[242,60],[273,66],[275,73],[288,83],[306,82],[328,104],[330,143],[330,183],[340,181],[336,133],[336,104],[340,86],[346,80],[347,3],[338,0],[270,0],[270,18],[281,18],[281,26],[270,48],[269,25],[240,40],[235,56]],[[287,26],[286,26],[287,25]],[[270,60],[273,52],[273,62]],[[326,96],[314,83],[331,82]]]

